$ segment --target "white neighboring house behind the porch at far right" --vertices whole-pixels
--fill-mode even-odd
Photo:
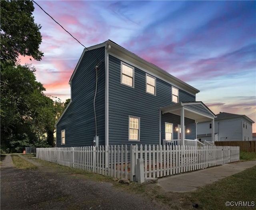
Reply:
[[[242,114],[220,112],[214,119],[214,141],[252,141],[253,120]],[[212,141],[212,122],[198,122],[197,139]]]

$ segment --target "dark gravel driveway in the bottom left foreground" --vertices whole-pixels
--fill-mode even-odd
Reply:
[[[1,210],[164,210],[138,194],[119,191],[110,183],[94,182],[59,172],[30,160],[36,170],[20,170],[7,155],[1,166]]]

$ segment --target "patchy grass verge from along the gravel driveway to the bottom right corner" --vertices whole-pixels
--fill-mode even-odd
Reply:
[[[240,152],[241,160],[255,160],[256,153]],[[195,192],[174,193],[164,192],[157,184],[138,184],[131,182],[129,185],[120,184],[113,181],[113,178],[102,176],[93,172],[60,166],[43,160],[36,160],[43,166],[54,168],[56,172],[70,174],[72,176],[94,180],[97,182],[110,182],[114,188],[132,194],[140,194],[154,202],[160,202],[170,206],[170,209],[195,209],[192,204],[198,204],[198,209],[252,209],[252,206],[232,206],[227,207],[227,201],[244,201],[248,204],[255,202],[256,205],[256,166],[248,168],[243,172],[226,177],[222,180],[208,184],[196,190]],[[74,206],[75,207],[78,206]],[[73,208],[70,208],[73,209]],[[79,209],[79,208],[76,208]]]

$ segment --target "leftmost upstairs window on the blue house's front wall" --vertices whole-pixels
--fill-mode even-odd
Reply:
[[[134,88],[134,68],[121,62],[121,83]]]

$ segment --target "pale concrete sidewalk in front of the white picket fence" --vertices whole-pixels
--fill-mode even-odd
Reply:
[[[239,173],[256,166],[256,161],[235,162],[194,172],[173,175],[158,180],[158,185],[166,192],[190,192],[198,187],[211,184],[226,176]]]

